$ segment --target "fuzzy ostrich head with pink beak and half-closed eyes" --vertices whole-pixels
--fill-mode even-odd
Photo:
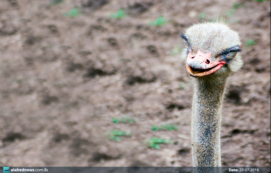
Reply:
[[[243,64],[239,35],[222,22],[195,24],[180,36],[185,45],[181,57],[192,77],[226,78]]]

